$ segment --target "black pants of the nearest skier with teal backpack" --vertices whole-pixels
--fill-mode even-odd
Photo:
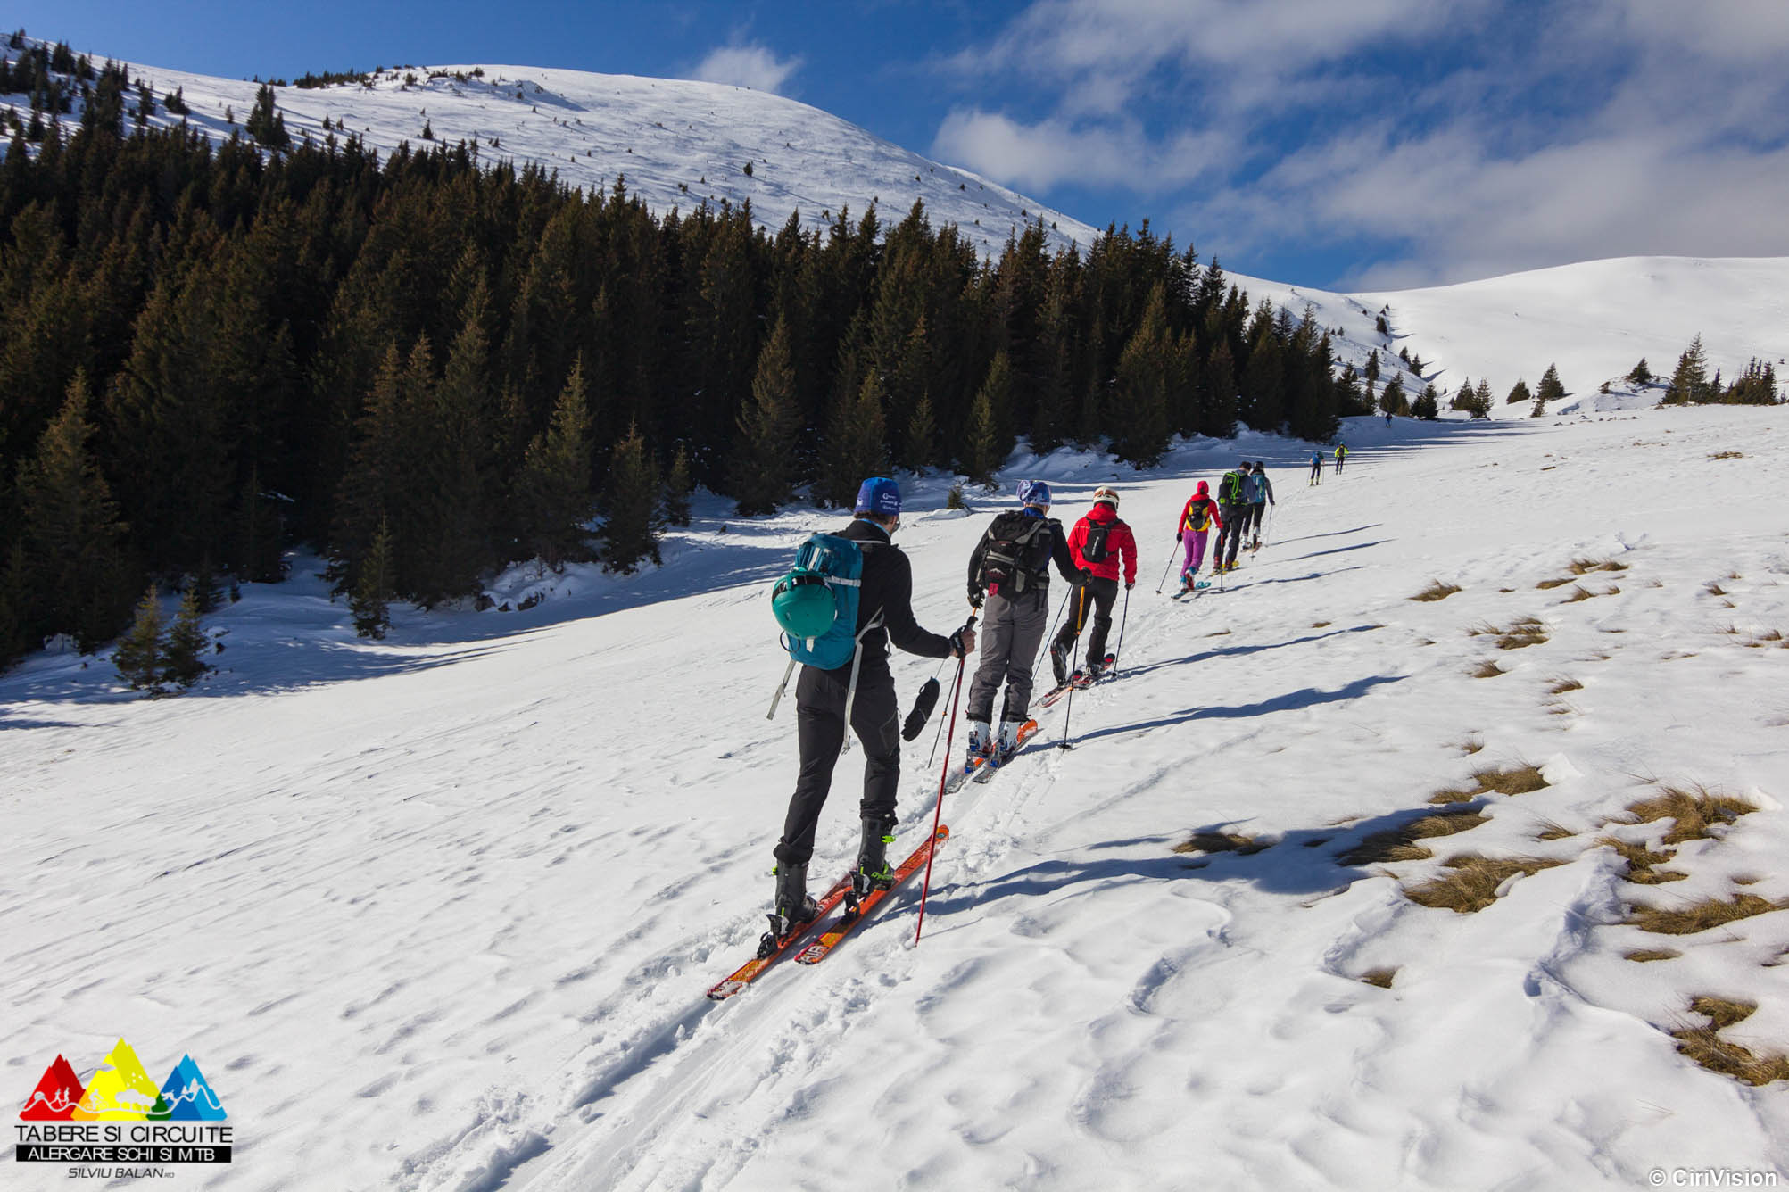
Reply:
[[[794,685],[794,723],[801,745],[801,773],[794,782],[776,859],[807,864],[814,856],[814,829],[832,789],[832,768],[844,746],[844,696],[852,668],[819,671],[801,668]],[[864,746],[862,818],[894,827],[894,793],[900,788],[900,702],[887,659],[864,660],[852,703],[852,730]]]

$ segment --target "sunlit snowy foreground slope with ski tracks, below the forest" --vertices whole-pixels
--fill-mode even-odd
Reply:
[[[1789,915],[1619,922],[1789,898],[1789,515],[1755,499],[1789,481],[1780,412],[1347,435],[1320,487],[1299,444],[1254,435],[1118,476],[1143,542],[1125,677],[1047,718],[1075,748],[950,802],[918,949],[909,895],[723,1004],[703,990],[760,931],[794,770],[787,709],[764,719],[782,669],[764,592],[835,515],[723,533],[710,507],[662,569],[512,576],[551,598],[401,616],[385,644],[315,578],[250,587],[209,623],[229,671],[177,700],[38,657],[0,678],[7,1079],[23,1097],[57,1052],[88,1076],[120,1033],[152,1067],[191,1052],[242,1145],[182,1178],[220,1188],[1789,1172],[1782,1085],[1698,1069],[1666,1034],[1714,993],[1759,1002],[1726,1038],[1789,1049]],[[1274,465],[1268,546],[1229,591],[1157,596],[1191,480],[1238,451]],[[1111,478],[1072,455],[1018,474],[1052,476],[1063,514]],[[946,515],[943,489],[911,487],[898,539],[934,628],[964,616],[962,558],[1002,503]],[[1574,558],[1626,569],[1539,587]],[[1431,578],[1463,591],[1412,601]],[[1483,634],[1521,617],[1546,641]],[[1487,660],[1505,673],[1474,677]],[[903,700],[930,671],[900,657]],[[827,875],[855,845],[857,757],[821,822]],[[923,761],[925,739],[905,752],[909,845],[937,784]],[[1431,857],[1342,861],[1517,762],[1549,786],[1472,796],[1483,820]],[[1667,823],[1621,823],[1655,782],[1757,811],[1662,845]],[[1195,830],[1267,847],[1175,852]],[[1624,882],[1605,836],[1687,877]],[[1558,864],[1478,913],[1401,893],[1465,852]],[[1374,968],[1390,988],[1360,981]]]

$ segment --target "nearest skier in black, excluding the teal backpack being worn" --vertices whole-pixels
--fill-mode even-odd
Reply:
[[[807,863],[814,856],[814,827],[832,789],[832,768],[844,746],[850,702],[852,730],[864,745],[862,848],[857,854],[861,891],[893,882],[887,845],[894,830],[894,793],[900,788],[900,705],[889,673],[889,641],[923,659],[961,659],[975,650],[975,630],[945,637],[920,628],[912,616],[912,564],[889,541],[900,528],[900,485],[873,476],[857,490],[857,515],[839,537],[862,549],[857,635],[862,660],[852,693],[852,666],[801,668],[796,682],[796,736],[801,773],[789,798],[784,834],[776,843],[778,934],[814,918],[819,907],[807,895]]]

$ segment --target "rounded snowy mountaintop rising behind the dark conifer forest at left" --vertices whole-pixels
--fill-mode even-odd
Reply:
[[[161,66],[132,63],[129,72],[157,97],[182,88],[188,122],[220,140],[249,118],[258,89]],[[5,102],[27,115],[29,97]],[[624,175],[628,190],[660,213],[691,211],[701,200],[751,202],[769,231],[793,211],[814,229],[846,208],[861,218],[869,204],[884,222],[898,222],[923,199],[934,226],[957,224],[991,254],[1038,218],[1054,247],[1086,247],[1095,238],[1095,229],[1061,211],[818,107],[719,82],[537,66],[406,66],[381,72],[370,86],[277,88],[276,104],[293,141],[306,134],[322,141],[327,120],[388,154],[404,141],[426,149],[428,127],[437,143],[476,143],[490,163],[535,161],[571,186],[606,190]],[[179,118],[157,109],[154,123],[172,127]]]

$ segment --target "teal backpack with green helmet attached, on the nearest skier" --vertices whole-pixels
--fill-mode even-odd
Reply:
[[[844,698],[844,723],[852,723],[852,703],[857,696],[857,668],[862,660],[862,634],[882,625],[878,609],[862,634],[857,632],[857,601],[864,587],[864,546],[835,533],[812,533],[794,553],[794,567],[771,589],[771,614],[782,628],[782,644],[789,651],[782,685],[771,698],[766,719],[776,716],[776,705],[789,687],[796,664],[832,671],[852,664],[852,682]],[[852,734],[844,734],[850,748]]]

